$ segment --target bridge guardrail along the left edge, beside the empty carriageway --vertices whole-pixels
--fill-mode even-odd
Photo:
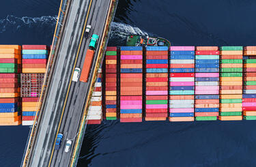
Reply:
[[[42,90],[40,93],[40,97],[39,97],[39,102],[38,102],[38,106],[36,106],[37,110],[36,110],[36,114],[34,117],[34,122],[33,122],[33,127],[30,128],[29,131],[29,137],[27,139],[27,145],[26,145],[26,149],[25,152],[23,154],[23,160],[21,162],[20,166],[27,166],[27,161],[29,160],[29,155],[31,153],[31,147],[33,146],[33,141],[35,140],[35,132],[38,128],[38,125],[40,123],[40,116],[42,115],[42,112],[39,113],[38,112],[41,110],[42,108],[42,102],[45,99],[45,92],[47,89],[47,85],[48,85],[48,79],[49,76],[51,76],[51,70],[53,69],[52,65],[54,63],[55,60],[55,50],[57,49],[57,45],[59,44],[59,36],[62,33],[62,25],[65,21],[65,16],[66,16],[66,10],[68,9],[68,4],[69,4],[70,0],[61,0],[60,6],[59,6],[59,13],[57,16],[57,22],[56,22],[56,26],[55,26],[55,33],[53,35],[53,42],[51,45],[51,52],[48,56],[48,63],[46,65],[46,73],[44,74],[44,82],[42,85]],[[38,121],[36,121],[38,119]]]

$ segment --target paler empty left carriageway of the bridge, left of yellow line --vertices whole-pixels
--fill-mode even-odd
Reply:
[[[83,23],[89,7],[89,1],[73,0],[68,13],[68,21],[64,28],[61,46],[59,46],[57,65],[53,73],[53,80],[49,87],[47,104],[44,106],[42,122],[38,125],[35,147],[31,151],[29,166],[47,166],[50,160],[53,141],[55,140],[57,125],[61,118],[66,94],[68,92],[68,79],[72,75],[72,67],[79,39],[83,31]]]

